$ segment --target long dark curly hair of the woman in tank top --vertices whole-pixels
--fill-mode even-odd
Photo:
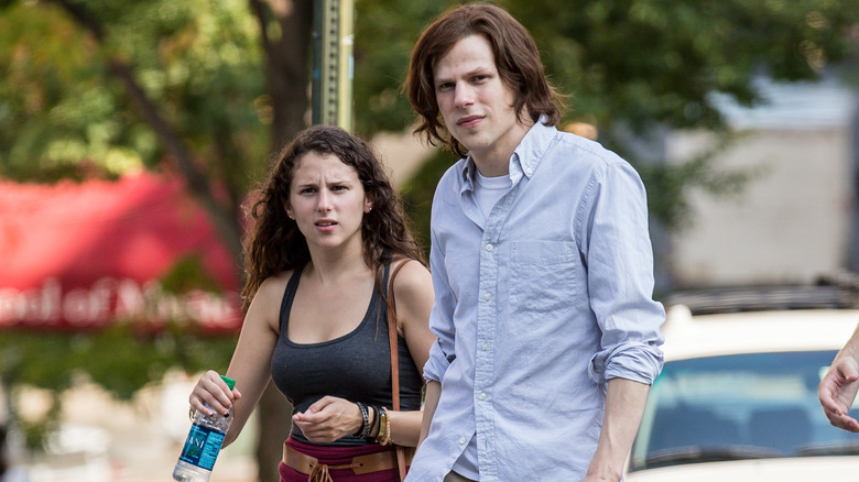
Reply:
[[[358,172],[358,179],[372,200],[372,210],[361,221],[361,237],[365,263],[376,270],[377,284],[381,285],[379,267],[390,256],[424,262],[423,251],[406,224],[402,200],[370,146],[342,129],[314,125],[278,155],[268,179],[255,189],[257,200],[249,212],[252,224],[244,241],[244,309],[267,277],[294,270],[311,259],[304,234],[286,216],[295,166],[309,152],[335,155]]]

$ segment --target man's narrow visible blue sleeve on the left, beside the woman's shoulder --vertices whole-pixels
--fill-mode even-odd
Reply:
[[[430,359],[424,364],[424,379],[427,382],[441,382],[447,368],[455,359],[454,341],[456,330],[454,328],[454,308],[456,300],[447,283],[447,270],[444,264],[444,254],[439,252],[438,243],[433,233],[433,243],[430,250],[430,270],[433,273],[433,289],[435,303],[430,315],[430,330],[438,339],[430,349]]]

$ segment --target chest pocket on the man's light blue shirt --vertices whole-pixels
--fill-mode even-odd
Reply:
[[[510,302],[513,311],[528,317],[568,308],[581,270],[576,243],[518,241],[511,243]]]

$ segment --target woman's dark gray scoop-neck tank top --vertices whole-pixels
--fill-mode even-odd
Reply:
[[[384,266],[383,286],[388,286],[390,265]],[[295,292],[304,266],[296,269],[281,302],[281,332],[271,359],[271,376],[293,406],[293,414],[304,412],[326,395],[391,408],[391,352],[388,342],[388,305],[379,289],[373,289],[370,305],[358,328],[342,337],[322,343],[294,343],[286,337]],[[421,408],[421,373],[409,353],[403,337],[398,336],[400,364],[400,409]],[[293,424],[292,436],[307,442]],[[365,440],[346,436],[330,445],[363,445]]]

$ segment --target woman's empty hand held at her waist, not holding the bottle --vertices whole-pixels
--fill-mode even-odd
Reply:
[[[358,405],[335,396],[323,397],[292,420],[312,442],[338,440],[357,432],[363,423]]]

